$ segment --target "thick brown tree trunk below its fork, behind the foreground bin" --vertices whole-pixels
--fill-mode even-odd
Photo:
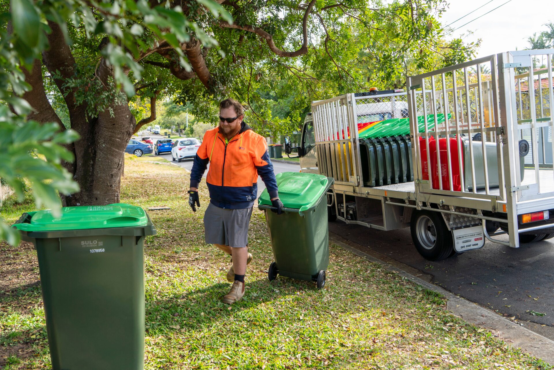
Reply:
[[[124,153],[135,129],[136,120],[129,105],[112,106],[89,119],[87,132],[75,142],[75,175],[81,190],[63,196],[64,206],[106,205],[120,202]]]

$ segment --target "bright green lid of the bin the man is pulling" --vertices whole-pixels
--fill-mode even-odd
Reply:
[[[297,209],[300,212],[310,209],[319,201],[329,187],[329,179],[324,175],[300,172],[282,172],[275,175],[279,199],[286,208]],[[260,205],[271,205],[267,189],[260,195]]]

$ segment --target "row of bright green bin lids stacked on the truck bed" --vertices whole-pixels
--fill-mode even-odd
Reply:
[[[450,119],[450,114],[448,114]],[[425,120],[424,116],[418,116],[418,128],[419,132],[422,133],[425,131]],[[437,123],[441,124],[444,122],[444,114],[437,114]],[[435,126],[435,116],[433,114],[427,115],[427,128],[433,129]],[[384,138],[386,136],[401,136],[410,134],[410,123],[409,118],[392,118],[386,119],[375,125],[372,125],[367,130],[362,130],[360,133],[360,139],[373,139],[373,138]]]

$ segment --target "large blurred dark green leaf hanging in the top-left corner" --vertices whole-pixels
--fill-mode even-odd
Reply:
[[[12,26],[17,36],[30,48],[38,45],[40,16],[31,0],[10,0]]]

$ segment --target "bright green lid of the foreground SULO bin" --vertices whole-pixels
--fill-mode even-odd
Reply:
[[[14,224],[13,227],[23,231],[83,230],[142,226],[148,222],[141,207],[125,203],[63,207],[60,217],[54,217],[50,210],[32,213],[29,222]]]

